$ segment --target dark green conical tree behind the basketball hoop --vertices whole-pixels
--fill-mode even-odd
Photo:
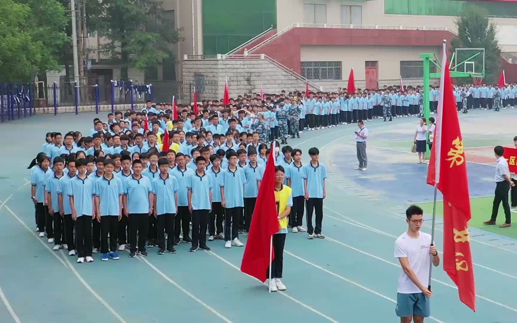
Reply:
[[[463,16],[455,21],[458,27],[458,39],[451,41],[451,51],[457,48],[484,48],[485,49],[485,78],[486,83],[497,81],[501,50],[497,41],[496,26],[489,21],[488,12],[475,5],[464,6]],[[457,57],[458,63],[462,57]],[[463,57],[463,60],[468,57]],[[482,64],[481,57],[476,63]]]

